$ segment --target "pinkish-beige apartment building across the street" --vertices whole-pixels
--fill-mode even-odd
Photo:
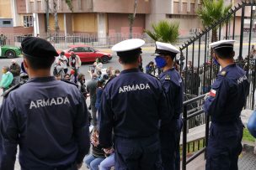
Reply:
[[[56,2],[60,33],[88,33],[98,37],[114,36],[116,33],[129,33],[128,16],[134,11],[134,0],[73,0],[73,11],[67,7],[65,0],[49,0],[49,28],[54,31],[55,19],[51,14]],[[226,3],[237,4],[241,0],[227,0]],[[136,20],[133,33],[143,33],[151,29],[152,23],[168,20],[179,23],[181,36],[193,35],[202,29],[196,10],[200,0],[138,0]],[[45,34],[47,31],[45,0],[0,0],[0,23],[7,19],[8,28],[0,31],[8,33]],[[246,10],[249,16],[250,10]],[[241,14],[236,16],[236,24]],[[248,19],[245,20],[245,24]],[[239,30],[236,30],[239,33]]]

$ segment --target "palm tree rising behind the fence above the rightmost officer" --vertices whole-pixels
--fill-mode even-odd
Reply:
[[[227,13],[232,8],[232,4],[225,6],[224,0],[203,0],[202,4],[202,8],[197,10],[197,14],[205,27],[209,27],[212,23],[216,23],[221,18],[227,16]],[[218,27],[212,28],[211,42],[218,40]]]

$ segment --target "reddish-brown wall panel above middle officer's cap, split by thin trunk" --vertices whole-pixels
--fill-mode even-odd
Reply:
[[[109,35],[111,33],[130,33],[128,14],[124,13],[109,13]],[[137,14],[133,24],[133,33],[143,33],[145,29],[145,15]]]

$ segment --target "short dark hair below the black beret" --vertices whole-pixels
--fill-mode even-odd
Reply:
[[[32,59],[31,57],[28,57],[24,55],[24,58],[27,59],[29,62],[29,66],[33,70],[47,70],[51,69],[51,64],[53,64],[55,57],[45,57],[44,59]]]

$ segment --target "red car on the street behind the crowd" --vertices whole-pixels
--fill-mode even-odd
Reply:
[[[65,52],[67,59],[69,59],[72,51],[80,57],[83,63],[94,62],[97,58],[101,59],[102,63],[107,63],[112,59],[111,54],[100,52],[88,45],[70,45],[68,47],[69,49],[62,50]],[[58,51],[58,53],[60,54],[61,51]]]

